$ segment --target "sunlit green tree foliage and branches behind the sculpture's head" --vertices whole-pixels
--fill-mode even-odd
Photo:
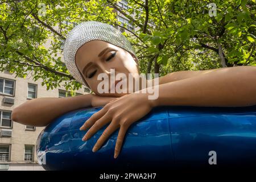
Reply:
[[[121,26],[117,11],[135,26],[130,31],[125,24],[123,35],[134,46],[142,73],[256,65],[255,0],[129,0],[128,10],[117,2],[1,1],[1,71],[18,77],[32,71],[47,89],[63,82],[67,90],[81,88],[63,63],[65,38],[87,20]]]

